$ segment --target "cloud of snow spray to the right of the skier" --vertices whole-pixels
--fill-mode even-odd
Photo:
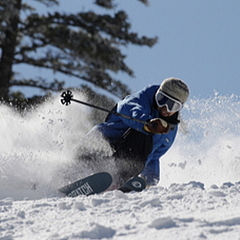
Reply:
[[[174,145],[161,159],[161,185],[200,181],[205,186],[238,182],[239,96],[190,99]]]

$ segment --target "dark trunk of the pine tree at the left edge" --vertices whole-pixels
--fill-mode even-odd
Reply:
[[[14,53],[17,44],[19,14],[22,0],[14,0],[13,7],[15,14],[9,19],[9,26],[2,34],[5,35],[1,44],[0,59],[0,99],[7,101],[9,99],[10,81],[13,77],[12,66],[14,62]]]

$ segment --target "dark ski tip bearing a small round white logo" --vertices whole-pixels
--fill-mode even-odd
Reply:
[[[132,177],[130,178],[123,186],[121,186],[118,190],[128,193],[131,191],[141,192],[146,188],[146,182],[141,177]]]

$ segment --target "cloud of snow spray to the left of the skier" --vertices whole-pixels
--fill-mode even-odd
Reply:
[[[89,113],[85,106],[64,107],[60,96],[22,115],[0,105],[0,199],[48,196],[66,177],[81,177],[84,165],[77,170],[74,160],[92,127]]]

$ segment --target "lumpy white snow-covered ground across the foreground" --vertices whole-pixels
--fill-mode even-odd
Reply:
[[[240,184],[0,201],[1,239],[239,239]]]

